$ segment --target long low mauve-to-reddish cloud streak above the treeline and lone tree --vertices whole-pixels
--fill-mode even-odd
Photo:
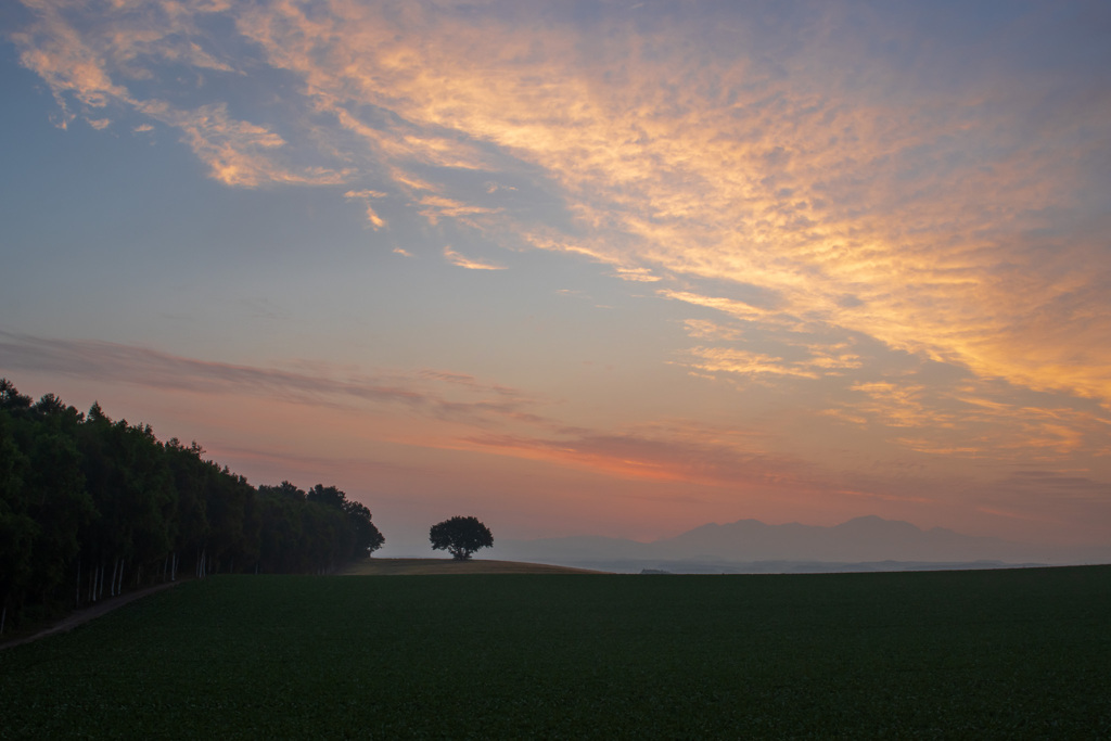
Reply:
[[[441,432],[436,438],[410,441],[413,444],[561,460],[622,478],[713,485],[798,480],[798,462],[761,451],[757,439],[742,431],[693,423],[658,424],[620,433],[591,430],[539,413],[539,400],[519,389],[467,373],[420,369],[364,375],[310,366],[311,372],[243,366],[111,342],[0,332],[0,368],[13,371],[33,370],[206,395],[276,398],[318,407],[400,407],[463,425],[454,437]]]

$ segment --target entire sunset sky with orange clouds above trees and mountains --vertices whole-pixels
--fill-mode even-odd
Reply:
[[[1105,2],[19,0],[0,375],[383,554],[1111,543]]]

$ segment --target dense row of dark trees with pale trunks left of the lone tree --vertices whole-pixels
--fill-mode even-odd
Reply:
[[[256,489],[203,455],[0,379],[0,631],[179,572],[327,572],[384,542],[336,487]]]

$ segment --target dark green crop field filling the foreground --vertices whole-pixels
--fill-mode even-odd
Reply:
[[[2,738],[1108,738],[1111,567],[214,577],[0,651]]]

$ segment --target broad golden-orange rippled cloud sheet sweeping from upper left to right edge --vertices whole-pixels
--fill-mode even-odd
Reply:
[[[11,38],[63,117],[72,104],[130,107],[178,128],[229,186],[387,172],[433,224],[587,254],[632,281],[754,283],[780,297],[780,321],[1111,398],[1111,350],[1095,341],[1111,319],[1088,309],[1111,288],[1105,230],[1100,209],[1074,212],[1100,176],[1062,167],[1050,143],[1069,142],[1070,161],[1098,161],[1111,99],[1062,98],[1065,80],[1053,76],[1071,70],[1000,79],[971,68],[964,83],[927,84],[928,62],[973,53],[943,47],[923,52],[914,94],[898,94],[892,72],[852,72],[865,64],[863,39],[894,32],[889,13],[840,4],[814,23],[784,12],[779,27],[743,7],[661,6],[635,23],[603,10],[590,27],[557,8],[453,3],[150,3],[101,8],[96,23],[61,2],[32,8],[34,22]],[[544,22],[524,20],[536,13]],[[218,16],[233,21],[231,36],[212,38]],[[657,43],[664,30],[670,41]],[[183,108],[139,93],[134,81],[158,64],[234,80],[243,57],[229,50],[244,41],[261,54],[250,63],[299,81],[299,93],[283,93],[297,112],[287,120],[300,121],[286,132],[232,116],[226,101]],[[1019,54],[1047,42],[1011,28],[984,43]],[[1070,86],[1097,83],[1078,74]],[[1062,114],[1043,113],[1053,108]],[[461,188],[449,172],[476,180]],[[524,172],[558,189],[573,229],[497,200],[518,193],[490,183]],[[373,228],[388,227],[366,209]],[[661,296],[768,319],[698,290]]]

